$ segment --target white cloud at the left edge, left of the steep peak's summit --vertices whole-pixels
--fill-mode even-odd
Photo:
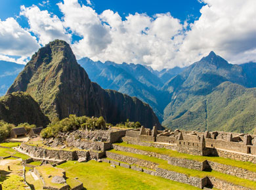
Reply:
[[[0,52],[11,56],[30,56],[39,48],[35,37],[14,20],[0,20]]]

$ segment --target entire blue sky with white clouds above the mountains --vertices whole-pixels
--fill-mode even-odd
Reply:
[[[213,50],[256,62],[255,0],[1,0],[0,60],[26,64],[54,39],[78,59],[184,67]]]

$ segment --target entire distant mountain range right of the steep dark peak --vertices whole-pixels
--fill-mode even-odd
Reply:
[[[161,71],[89,58],[77,62],[102,88],[148,103],[168,128],[252,132],[256,126],[256,63],[228,64],[214,52],[189,67]]]

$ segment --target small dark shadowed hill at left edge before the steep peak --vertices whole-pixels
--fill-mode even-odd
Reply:
[[[24,92],[13,92],[0,98],[0,120],[18,125],[20,123],[47,126],[49,119],[33,98]]]

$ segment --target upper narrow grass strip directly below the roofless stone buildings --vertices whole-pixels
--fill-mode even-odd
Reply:
[[[189,155],[185,153],[179,153],[177,151],[172,151],[170,149],[133,145],[126,142],[116,143],[116,145],[121,145],[123,147],[131,147],[134,149],[140,149],[142,151],[150,151],[150,152],[158,153],[161,155],[168,155],[169,157],[189,159],[189,160],[200,161],[200,162],[203,162],[205,160],[218,162],[220,164],[226,164],[226,165],[235,166],[238,168],[243,168],[245,170],[249,170],[252,172],[256,172],[256,164],[253,164],[251,162],[235,161],[235,160],[226,159],[223,157],[203,157],[203,156]]]

